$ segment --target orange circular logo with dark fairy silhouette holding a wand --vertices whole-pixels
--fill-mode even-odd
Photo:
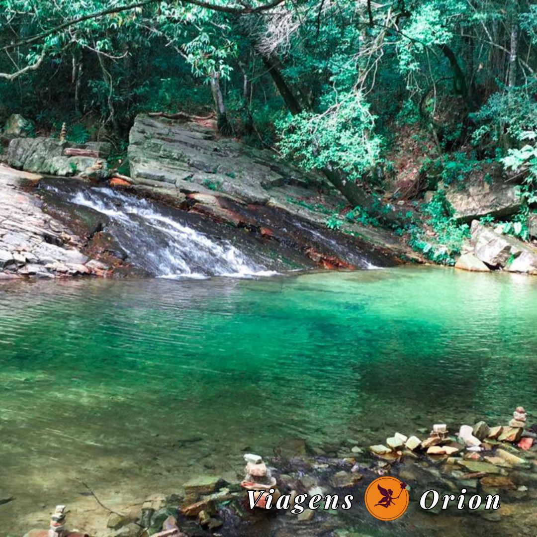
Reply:
[[[369,513],[379,520],[395,520],[408,507],[407,484],[397,477],[378,477],[369,484],[365,504]]]

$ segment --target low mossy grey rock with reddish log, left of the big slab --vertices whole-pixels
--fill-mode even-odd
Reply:
[[[70,144],[46,137],[16,138],[9,144],[8,163],[29,172],[101,179],[108,175],[110,151],[106,142]]]

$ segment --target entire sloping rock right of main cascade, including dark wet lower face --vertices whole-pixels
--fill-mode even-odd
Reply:
[[[218,139],[206,126],[146,115],[136,118],[129,142],[137,192],[255,231],[319,267],[389,266],[396,255],[409,253],[380,228],[349,229],[359,239],[327,229],[327,214],[340,211],[346,200],[323,176],[282,163],[271,151]]]

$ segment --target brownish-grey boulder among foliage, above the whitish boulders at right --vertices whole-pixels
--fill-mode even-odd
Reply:
[[[481,216],[510,216],[520,209],[520,195],[516,185],[496,176],[490,182],[482,177],[470,177],[465,188],[450,185],[446,199],[453,206],[454,217],[460,222],[470,222]]]

